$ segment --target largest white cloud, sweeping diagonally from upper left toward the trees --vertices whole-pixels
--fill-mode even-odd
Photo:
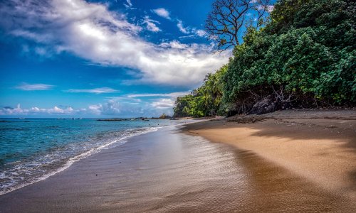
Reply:
[[[155,11],[169,17],[164,9]],[[0,26],[56,53],[65,51],[100,65],[140,72],[138,82],[194,87],[206,73],[228,62],[231,55],[227,51],[211,54],[212,45],[147,42],[138,35],[142,28],[129,23],[125,15],[83,0],[52,0],[46,4],[10,0],[0,8]]]

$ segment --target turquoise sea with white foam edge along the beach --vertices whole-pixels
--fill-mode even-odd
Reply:
[[[125,138],[186,121],[0,119],[0,195],[43,180]]]

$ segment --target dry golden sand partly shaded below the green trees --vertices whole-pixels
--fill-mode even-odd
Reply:
[[[278,111],[190,124],[184,129],[228,143],[356,202],[356,111]]]

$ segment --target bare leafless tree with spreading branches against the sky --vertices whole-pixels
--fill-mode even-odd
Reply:
[[[270,0],[216,0],[206,18],[205,30],[221,51],[239,45],[244,28],[259,28],[266,23],[272,9],[269,3]]]

